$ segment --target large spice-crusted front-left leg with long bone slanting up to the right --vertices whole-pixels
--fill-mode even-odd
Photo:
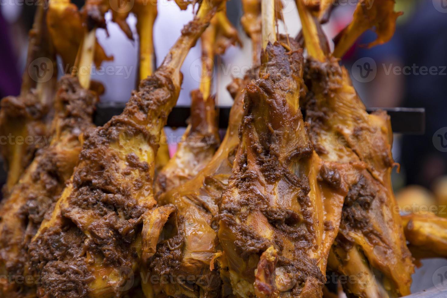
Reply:
[[[123,273],[156,252],[175,207],[154,209],[152,182],[160,131],[176,104],[180,67],[221,1],[202,6],[162,65],[139,85],[123,113],[84,135],[80,162],[30,243],[40,297],[122,296]]]

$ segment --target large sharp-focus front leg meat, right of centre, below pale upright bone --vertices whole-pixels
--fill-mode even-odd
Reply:
[[[241,144],[219,204],[223,278],[240,297],[321,296],[343,177],[337,183],[337,170],[322,168],[307,137],[297,43],[269,44],[261,63],[260,79],[246,88]]]

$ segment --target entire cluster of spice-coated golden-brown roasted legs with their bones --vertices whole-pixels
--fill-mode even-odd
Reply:
[[[389,40],[394,2],[364,10],[361,0],[330,53],[319,24],[328,1],[296,0],[306,51],[276,34],[280,1],[262,1],[243,0],[253,67],[228,86],[234,104],[221,142],[211,62],[239,42],[224,0],[200,4],[155,71],[156,7],[135,3],[141,81],[104,126],[92,124],[98,92],[90,89],[99,89],[89,76],[63,76],[57,89],[55,76],[38,84],[25,76],[21,96],[2,101],[2,134],[51,135],[46,147],[1,148],[9,168],[2,297],[330,297],[326,272],[354,280],[338,289],[349,297],[401,297],[413,256],[447,256],[446,233],[436,230],[447,220],[396,213],[390,119],[366,112],[337,59],[366,29],[375,28],[375,43]],[[67,0],[51,3],[31,34],[41,57],[54,63],[57,53],[77,67],[108,59],[94,29],[104,27],[109,1],[87,1],[82,13]],[[113,20],[133,38],[127,15],[115,10]],[[56,25],[67,16],[66,42]],[[160,135],[199,38],[190,123],[163,162]]]

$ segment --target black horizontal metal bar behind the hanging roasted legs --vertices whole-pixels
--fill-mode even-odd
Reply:
[[[95,115],[95,124],[103,125],[114,115],[118,115],[124,109],[124,103],[105,103],[99,104]],[[368,113],[383,108],[368,108]],[[425,132],[425,109],[424,108],[387,108],[391,117],[391,126],[394,133],[398,134],[424,134]],[[230,115],[229,107],[219,107],[219,127],[226,128],[228,117]],[[187,119],[190,117],[190,108],[186,106],[177,106],[168,117],[168,126],[185,127]]]

